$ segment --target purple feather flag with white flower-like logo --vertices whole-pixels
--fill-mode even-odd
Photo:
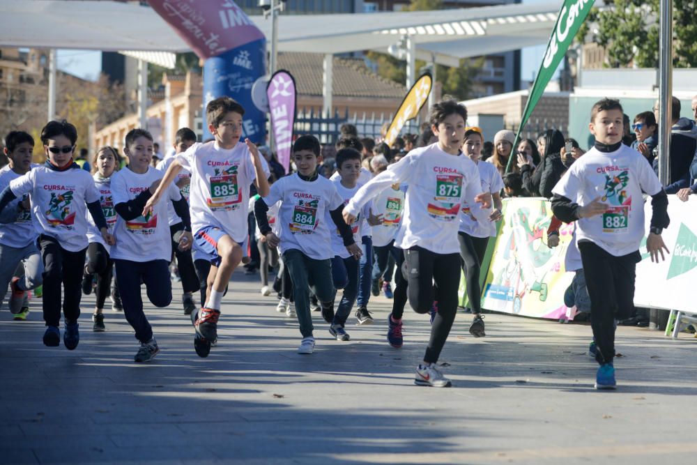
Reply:
[[[296,80],[288,71],[278,70],[268,82],[266,95],[276,154],[287,174],[291,166],[293,123],[296,121]]]

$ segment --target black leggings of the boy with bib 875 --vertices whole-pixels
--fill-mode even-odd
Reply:
[[[409,304],[417,313],[431,310],[438,287],[438,313],[431,326],[431,339],[424,362],[436,363],[450,334],[457,311],[457,288],[460,284],[460,255],[436,254],[422,247],[404,251],[408,267]]]

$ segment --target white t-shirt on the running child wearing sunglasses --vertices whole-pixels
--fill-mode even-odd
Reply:
[[[10,190],[17,197],[31,194],[36,233],[56,238],[70,252],[87,247],[86,204],[99,200],[99,192],[87,171],[79,168],[54,171],[40,166],[11,181]]]

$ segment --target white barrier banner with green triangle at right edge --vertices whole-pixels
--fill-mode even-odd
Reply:
[[[670,254],[665,261],[652,263],[646,251],[646,242],[641,245],[641,263],[636,266],[636,291],[634,305],[695,312],[694,293],[697,282],[697,199],[689,197],[682,202],[669,195],[668,216],[671,225],[663,230],[664,243]],[[645,204],[646,231],[652,215],[651,202]]]

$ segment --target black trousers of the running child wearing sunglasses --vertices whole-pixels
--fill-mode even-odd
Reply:
[[[63,284],[63,314],[66,323],[77,323],[82,298],[82,273],[86,248],[77,252],[65,250],[52,236],[38,238],[43,271],[43,316],[46,326],[61,323],[61,284]]]

